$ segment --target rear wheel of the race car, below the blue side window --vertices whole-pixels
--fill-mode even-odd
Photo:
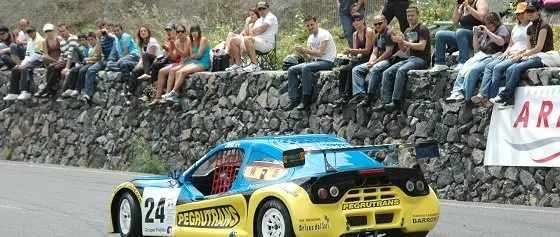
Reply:
[[[281,237],[295,236],[288,208],[281,201],[272,199],[265,202],[259,210],[256,236],[278,236],[277,231],[280,231]]]

